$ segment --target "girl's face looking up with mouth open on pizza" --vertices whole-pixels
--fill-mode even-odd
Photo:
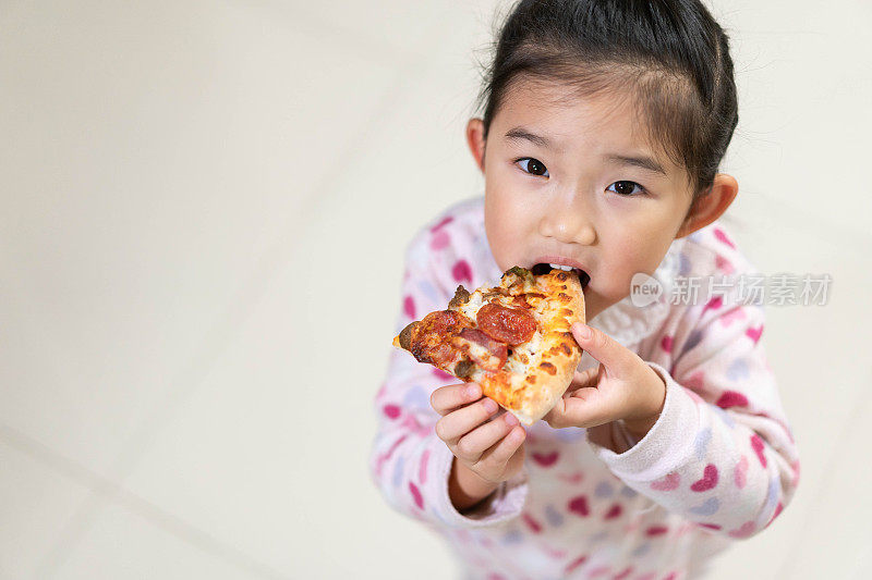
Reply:
[[[504,271],[548,262],[584,270],[591,320],[627,297],[633,275],[652,274],[671,242],[689,233],[679,229],[691,189],[687,172],[656,155],[633,126],[631,99],[557,102],[564,90],[520,85],[494,116],[481,160],[485,230]],[[480,119],[470,121],[474,155],[481,129]]]

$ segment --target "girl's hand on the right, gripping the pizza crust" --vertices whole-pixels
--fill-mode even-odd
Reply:
[[[598,329],[577,322],[571,331],[600,367],[576,371],[569,388],[543,421],[554,428],[586,429],[622,419],[631,432],[647,433],[663,410],[666,383],[639,355]]]

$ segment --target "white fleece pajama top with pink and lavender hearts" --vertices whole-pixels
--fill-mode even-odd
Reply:
[[[445,309],[458,284],[499,281],[483,201],[450,207],[408,246],[397,333]],[[760,341],[762,301],[737,282],[748,273],[759,274],[719,221],[673,242],[653,275],[664,288],[657,300],[637,307],[628,296],[589,321],[665,380],[651,431],[634,441],[610,423],[616,453],[585,429],[537,421],[526,428],[522,471],[463,514],[448,496],[453,456],[436,436],[440,417],[429,405],[434,390],[459,381],[386,346],[370,458],[375,484],[393,509],[446,539],[465,579],[699,576],[711,556],[772,523],[799,481]],[[702,281],[697,299],[676,293],[691,277]],[[596,365],[584,353],[579,369]]]

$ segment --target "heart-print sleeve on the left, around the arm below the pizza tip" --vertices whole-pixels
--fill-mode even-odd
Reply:
[[[428,231],[422,232],[407,250],[397,334],[428,312],[444,310],[455,294],[434,267],[431,237]],[[429,397],[439,386],[459,381],[391,348],[387,377],[375,397],[378,427],[370,456],[371,476],[382,495],[400,514],[436,528],[480,528],[518,517],[528,495],[524,470],[472,509],[461,514],[453,507],[448,495],[453,454],[436,435],[440,416]]]

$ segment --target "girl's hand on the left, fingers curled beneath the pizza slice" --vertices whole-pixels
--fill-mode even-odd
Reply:
[[[436,435],[458,461],[482,478],[497,484],[511,479],[523,467],[526,432],[510,412],[488,420],[499,405],[482,397],[476,383],[441,386],[433,392],[431,405],[443,416]]]

